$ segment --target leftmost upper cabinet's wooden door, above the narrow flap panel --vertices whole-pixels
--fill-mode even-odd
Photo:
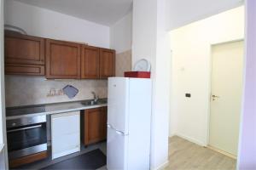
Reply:
[[[7,34],[4,56],[8,64],[44,65],[44,38]]]

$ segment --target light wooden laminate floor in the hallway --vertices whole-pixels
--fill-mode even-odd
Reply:
[[[177,136],[169,139],[169,165],[165,170],[235,169],[235,159]]]

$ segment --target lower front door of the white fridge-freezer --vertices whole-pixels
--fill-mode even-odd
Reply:
[[[128,136],[108,126],[107,169],[126,170]]]

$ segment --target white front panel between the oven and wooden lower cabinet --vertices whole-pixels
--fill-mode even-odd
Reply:
[[[80,150],[80,112],[51,116],[52,159]]]

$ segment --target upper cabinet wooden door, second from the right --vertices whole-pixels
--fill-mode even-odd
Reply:
[[[83,46],[81,56],[81,78],[96,79],[100,77],[100,49]]]

